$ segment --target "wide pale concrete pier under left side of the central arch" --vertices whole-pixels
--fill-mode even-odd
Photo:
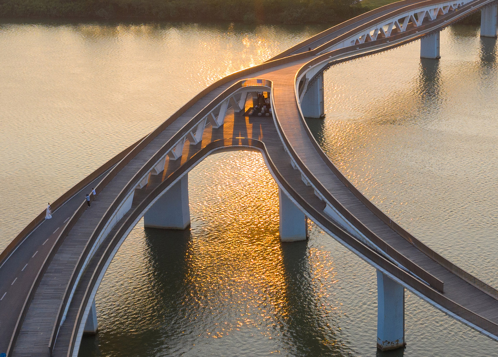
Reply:
[[[190,226],[188,175],[166,191],[143,217],[144,227],[184,230]]]

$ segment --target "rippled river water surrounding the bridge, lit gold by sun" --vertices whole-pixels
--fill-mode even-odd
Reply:
[[[233,24],[0,23],[0,248],[197,92],[323,30]],[[332,67],[333,162],[417,238],[498,286],[497,43],[479,28]],[[90,356],[498,356],[496,342],[406,292],[406,349],[375,349],[375,269],[312,227],[278,239],[260,154],[189,174],[190,231],[124,241],[97,294]]]

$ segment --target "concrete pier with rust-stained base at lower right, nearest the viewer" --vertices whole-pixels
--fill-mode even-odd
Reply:
[[[377,348],[404,347],[404,287],[377,270]]]

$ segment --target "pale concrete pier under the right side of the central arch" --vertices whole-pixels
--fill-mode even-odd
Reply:
[[[304,213],[280,189],[278,189],[278,204],[280,240],[306,240],[307,227]]]

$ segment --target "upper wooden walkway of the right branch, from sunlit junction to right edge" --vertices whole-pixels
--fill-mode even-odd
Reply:
[[[297,67],[297,66],[296,66]],[[288,70],[275,71],[266,77],[274,81],[273,97],[275,112],[281,120],[282,129],[303,163],[344,207],[355,215],[366,227],[410,260],[444,281],[444,295],[456,303],[498,323],[498,300],[475,288],[454,273],[448,271],[432,258],[418,250],[399,236],[373,214],[334,174],[311,142],[304,127],[295,101],[294,79]],[[297,68],[293,68],[294,73]]]

